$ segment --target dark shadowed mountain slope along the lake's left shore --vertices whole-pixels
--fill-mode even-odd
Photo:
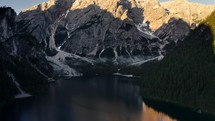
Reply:
[[[15,18],[12,8],[0,8],[0,109],[8,100],[46,90],[53,73],[35,38],[16,33]]]

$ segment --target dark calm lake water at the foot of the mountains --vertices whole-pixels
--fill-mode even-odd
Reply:
[[[201,116],[202,114],[177,106],[146,102],[155,109],[143,102],[139,94],[138,80],[134,78],[120,76],[72,78],[52,83],[46,95],[16,100],[5,108],[7,110],[3,112],[3,120],[192,121],[196,118],[204,119],[202,121],[215,121],[213,116]],[[162,109],[172,116],[162,112]],[[184,111],[187,112],[183,113]]]

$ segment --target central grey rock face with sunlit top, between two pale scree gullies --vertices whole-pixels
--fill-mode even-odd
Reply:
[[[143,9],[139,7],[136,1],[76,0],[59,26],[59,29],[67,30],[64,35],[68,34],[68,37],[60,38],[63,44],[59,46],[66,52],[92,57],[118,59],[121,55],[131,57],[137,51],[139,55],[159,55],[158,51],[151,51],[151,35],[145,33],[149,37],[144,36],[136,27],[143,22]],[[157,42],[154,41],[154,48],[159,50]]]

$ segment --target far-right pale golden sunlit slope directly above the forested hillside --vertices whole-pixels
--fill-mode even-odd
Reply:
[[[207,18],[215,9],[215,5],[192,3],[188,0],[163,2],[161,6],[169,10],[170,16],[183,18],[189,25],[192,23],[198,24]]]

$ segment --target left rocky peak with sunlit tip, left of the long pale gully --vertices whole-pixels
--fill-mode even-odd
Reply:
[[[46,51],[56,49],[54,35],[57,26],[74,0],[50,0],[23,10],[17,17],[20,33],[30,33]]]

